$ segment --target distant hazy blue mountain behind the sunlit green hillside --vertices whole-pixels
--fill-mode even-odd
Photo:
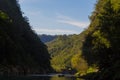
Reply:
[[[43,43],[47,43],[47,42],[50,42],[50,41],[53,41],[54,39],[56,39],[58,37],[58,35],[42,34],[42,35],[39,35],[39,37]]]

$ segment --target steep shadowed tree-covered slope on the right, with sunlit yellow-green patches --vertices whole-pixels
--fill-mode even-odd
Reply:
[[[83,45],[88,63],[99,67],[99,80],[120,79],[120,0],[98,0]]]

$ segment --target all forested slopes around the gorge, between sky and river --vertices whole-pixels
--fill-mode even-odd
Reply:
[[[78,35],[38,36],[18,0],[0,0],[0,75],[53,68],[74,70],[87,80],[119,80],[120,0],[97,0],[89,18],[89,27]]]

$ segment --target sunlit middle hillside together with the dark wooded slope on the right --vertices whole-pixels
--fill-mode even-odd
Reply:
[[[57,71],[76,69],[91,80],[120,79],[120,0],[97,0],[91,24],[79,35],[48,43]],[[95,69],[97,68],[97,69]],[[91,73],[91,72],[96,73]]]

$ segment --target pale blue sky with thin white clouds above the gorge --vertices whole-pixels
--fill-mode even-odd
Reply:
[[[37,34],[79,34],[89,25],[96,0],[19,0]]]

